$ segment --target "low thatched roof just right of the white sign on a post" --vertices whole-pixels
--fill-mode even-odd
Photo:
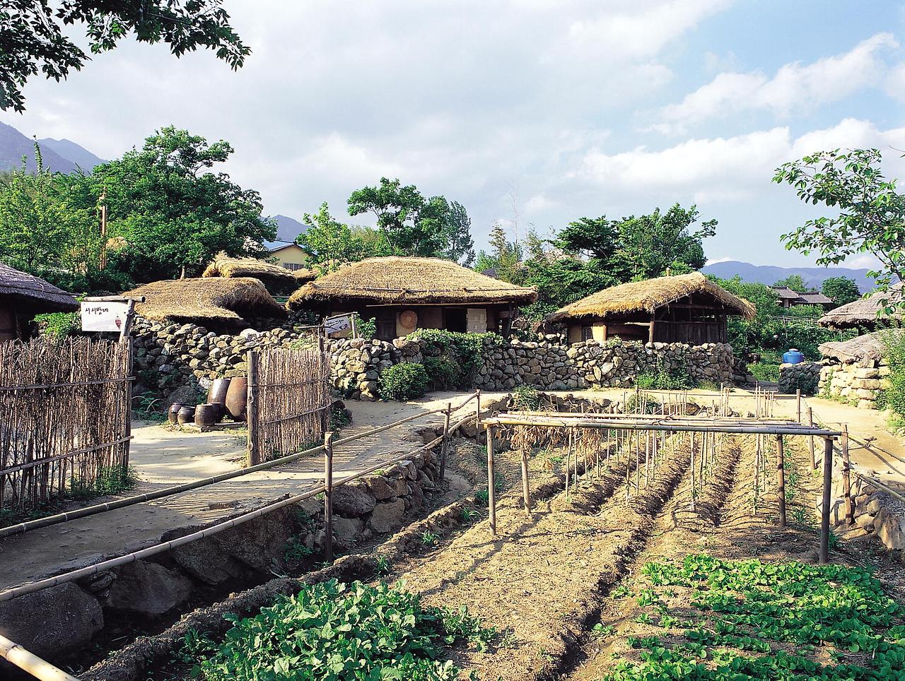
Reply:
[[[144,296],[136,312],[158,322],[241,325],[249,317],[282,317],[286,311],[261,281],[250,277],[166,279],[126,291]]]

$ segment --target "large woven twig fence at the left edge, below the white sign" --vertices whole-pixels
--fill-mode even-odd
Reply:
[[[0,343],[0,510],[38,509],[129,464],[129,345]]]

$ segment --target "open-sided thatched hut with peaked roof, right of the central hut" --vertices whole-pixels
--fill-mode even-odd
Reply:
[[[567,326],[569,343],[595,339],[663,343],[725,343],[727,315],[754,317],[747,300],[700,272],[632,281],[582,298],[547,317]]]

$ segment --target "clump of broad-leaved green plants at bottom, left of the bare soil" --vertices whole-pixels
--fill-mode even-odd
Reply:
[[[233,628],[198,660],[209,681],[261,679],[413,679],[455,681],[460,670],[438,659],[444,646],[490,647],[496,632],[468,610],[425,607],[403,585],[306,584]],[[304,670],[304,676],[300,670]]]

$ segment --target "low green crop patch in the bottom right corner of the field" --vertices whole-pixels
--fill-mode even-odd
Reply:
[[[871,572],[706,554],[643,572],[638,602],[662,633],[629,637],[606,681],[903,678],[905,608]]]

